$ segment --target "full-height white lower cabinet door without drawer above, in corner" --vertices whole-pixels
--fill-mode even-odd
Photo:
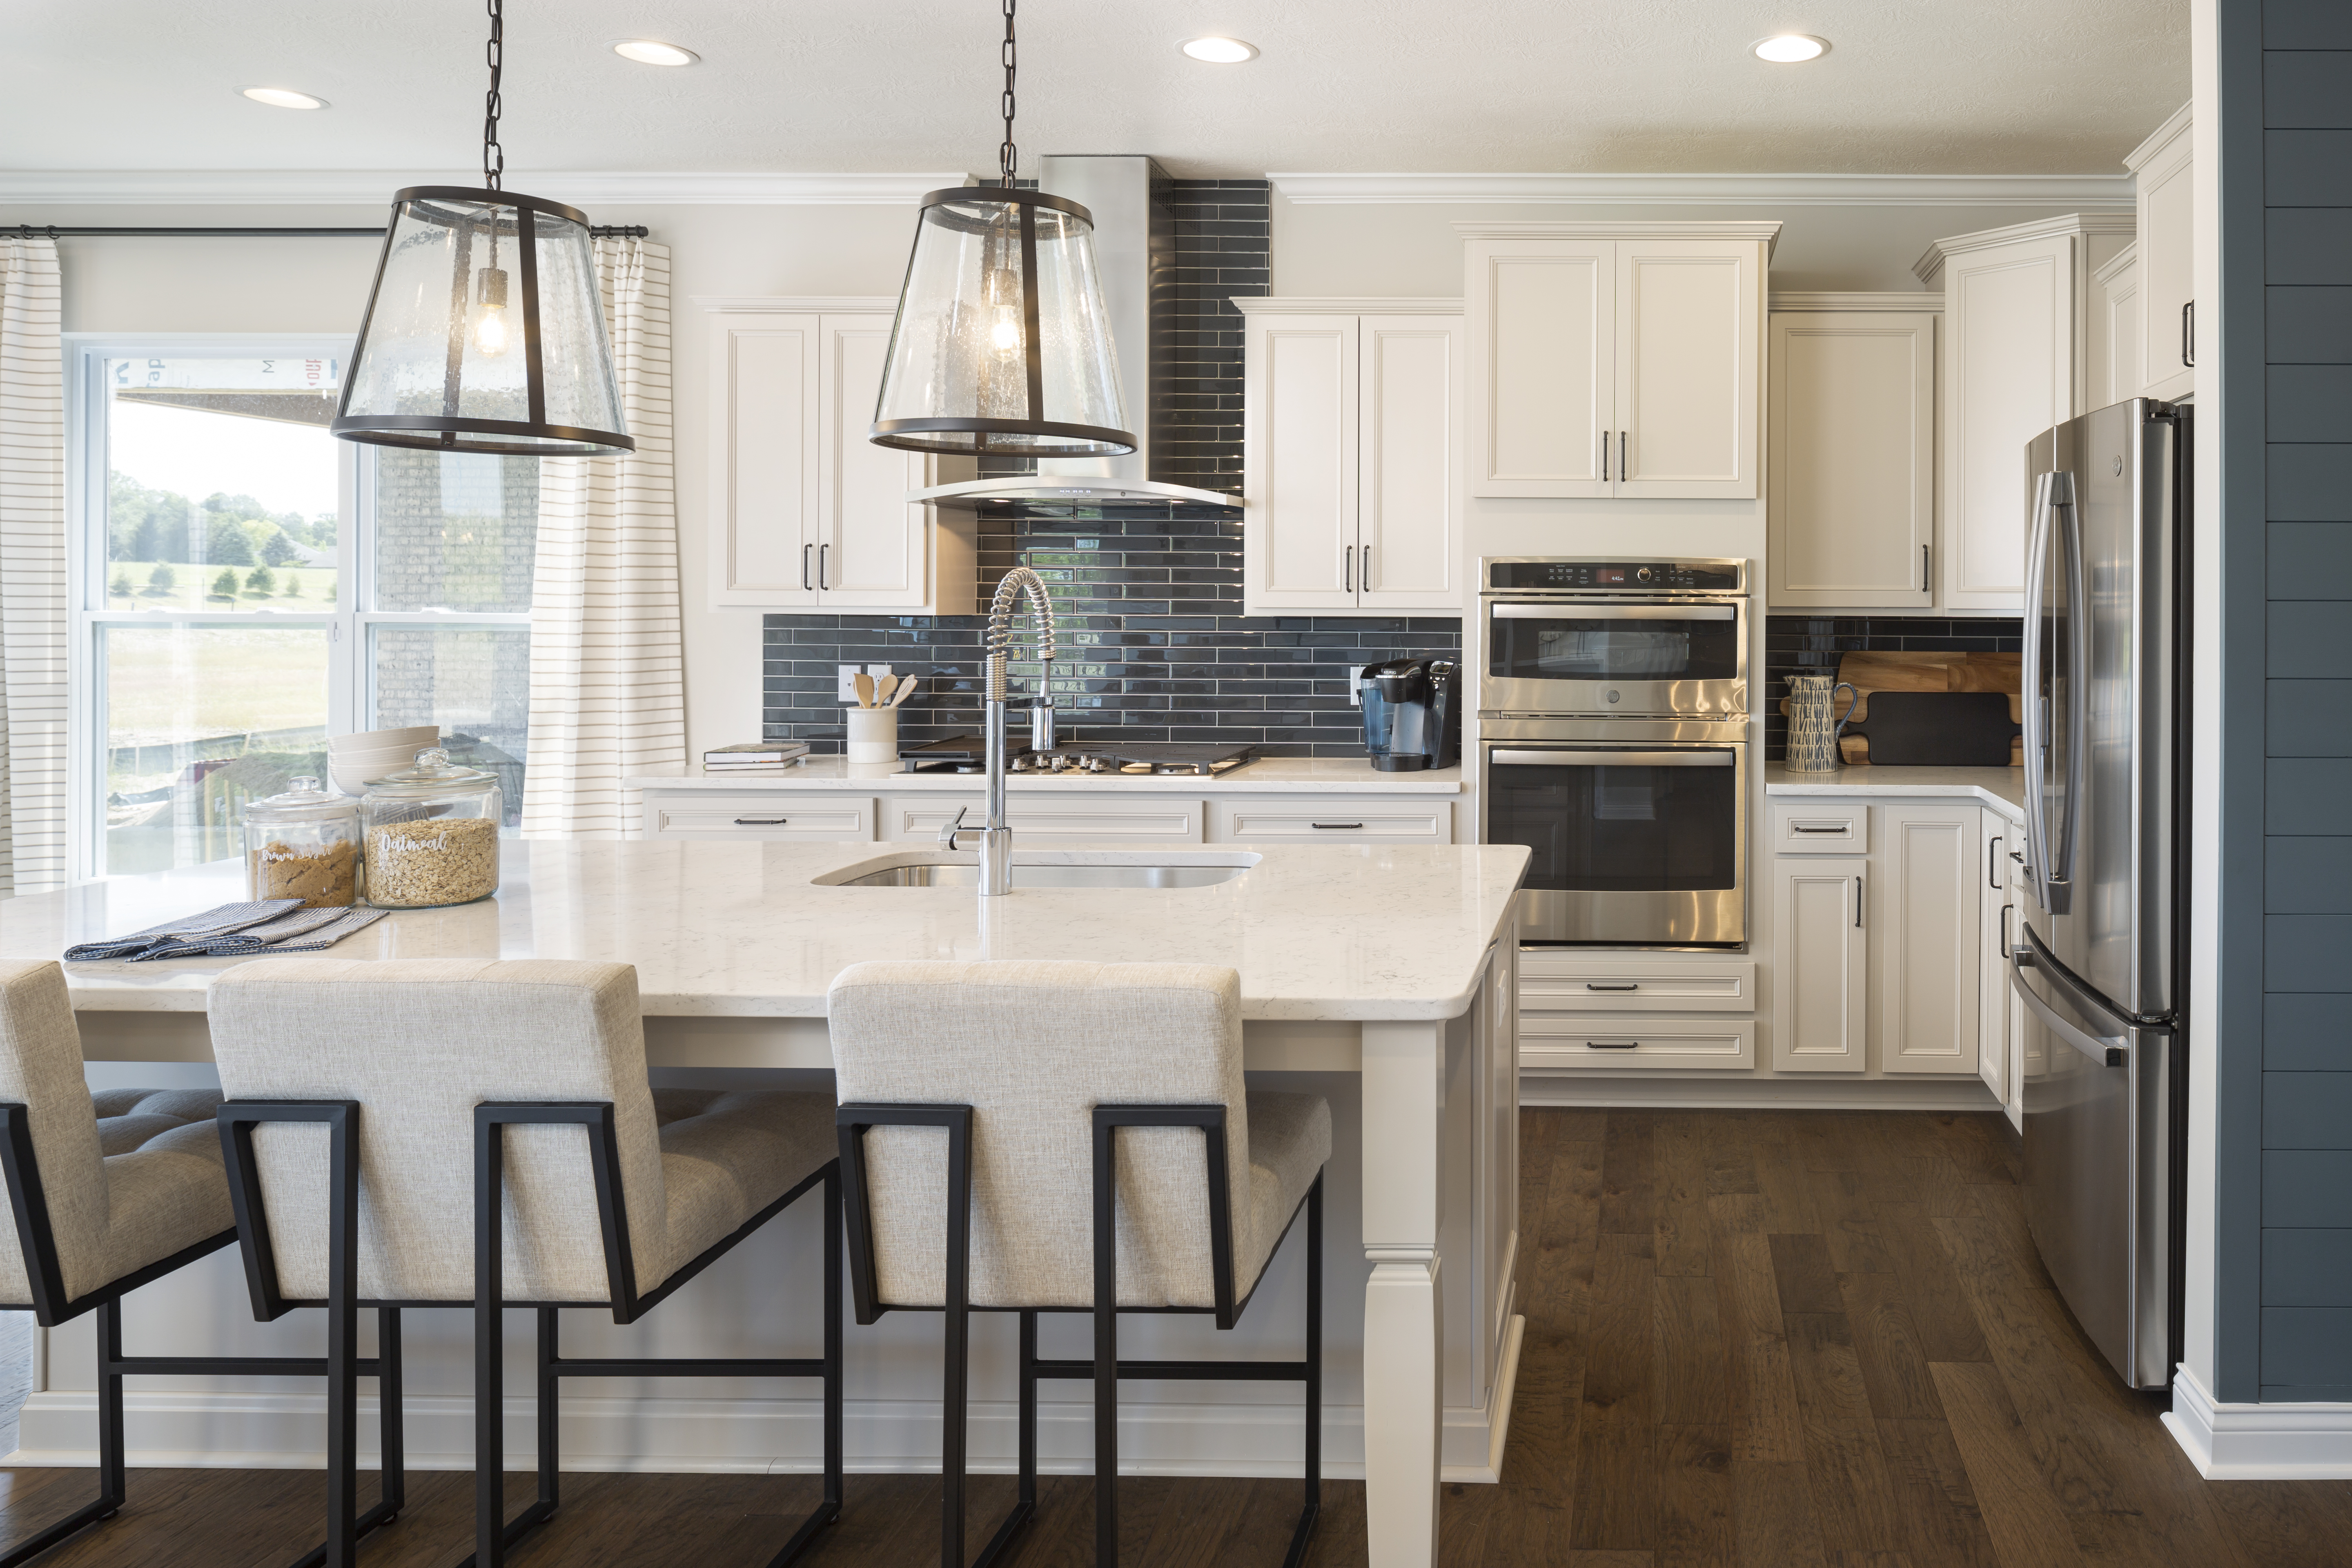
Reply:
[[[1976,1072],[1983,806],[1882,806],[1879,1067]]]

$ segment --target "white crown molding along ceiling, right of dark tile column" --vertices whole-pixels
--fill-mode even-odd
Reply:
[[[1298,205],[2067,207],[2136,205],[2129,174],[1268,174]]]

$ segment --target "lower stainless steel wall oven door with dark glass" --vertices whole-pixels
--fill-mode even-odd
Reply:
[[[1522,938],[1748,940],[1745,743],[1489,745],[1489,844],[1526,844]]]

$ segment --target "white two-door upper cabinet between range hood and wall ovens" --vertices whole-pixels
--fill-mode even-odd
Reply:
[[[1461,614],[1461,301],[1244,299],[1249,614]]]

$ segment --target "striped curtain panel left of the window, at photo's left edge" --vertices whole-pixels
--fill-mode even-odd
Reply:
[[[66,388],[56,240],[0,237],[0,898],[66,886]]]

